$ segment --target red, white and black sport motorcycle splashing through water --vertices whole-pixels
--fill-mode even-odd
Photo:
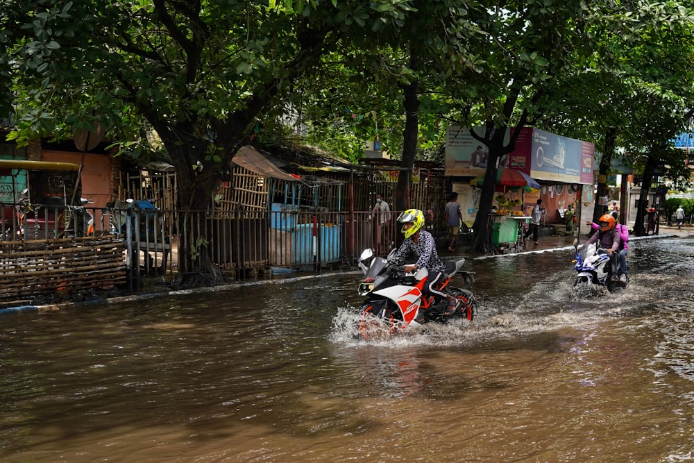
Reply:
[[[426,296],[422,290],[428,271],[418,269],[405,273],[403,266],[391,264],[395,251],[387,258],[375,257],[372,249],[366,249],[359,256],[359,269],[364,279],[359,283],[359,296],[366,296],[359,318],[359,333],[369,338],[373,332],[393,333],[409,327],[421,326],[430,321],[446,323],[454,317],[473,320],[477,314],[477,301],[467,289],[448,287],[450,279],[459,272],[465,259],[444,262],[446,278],[439,288],[442,292],[459,299],[462,304],[455,313],[446,315],[446,298]],[[371,260],[369,265],[366,262]],[[474,280],[473,273],[463,272],[466,281]]]

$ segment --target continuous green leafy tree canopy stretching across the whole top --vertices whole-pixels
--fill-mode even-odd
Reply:
[[[146,153],[157,133],[191,210],[259,124],[353,160],[378,135],[405,168],[441,153],[448,123],[484,126],[487,230],[506,128],[580,134],[634,165],[666,157],[694,107],[693,17],[649,0],[3,0],[0,108],[20,143],[99,121]],[[183,240],[180,269],[219,280],[192,258],[204,237]],[[484,231],[475,247],[490,251]]]

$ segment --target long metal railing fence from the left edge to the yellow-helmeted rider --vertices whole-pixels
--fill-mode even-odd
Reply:
[[[273,212],[239,208],[219,214],[162,210],[146,201],[116,201],[105,209],[37,207],[42,212],[30,222],[17,205],[1,206],[2,241],[87,235],[123,239],[133,289],[142,285],[142,278],[178,273],[179,246],[191,246],[181,244],[184,235],[198,237],[194,249],[188,247],[194,260],[206,255],[227,276],[242,279],[261,271],[321,271],[351,266],[366,248],[387,255],[399,231],[395,211],[375,216],[373,212],[318,212],[287,205]],[[171,217],[177,217],[178,223]],[[428,230],[437,236],[440,231],[435,230],[435,223],[428,218]],[[185,234],[184,227],[192,228],[194,233]]]

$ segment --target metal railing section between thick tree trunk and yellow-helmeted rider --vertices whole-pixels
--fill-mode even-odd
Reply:
[[[326,266],[352,264],[366,247],[387,254],[396,238],[396,213],[383,220],[371,215],[314,212],[287,205],[276,212],[196,213],[190,223],[205,237],[208,255],[223,271],[282,273],[282,269],[321,271]]]

